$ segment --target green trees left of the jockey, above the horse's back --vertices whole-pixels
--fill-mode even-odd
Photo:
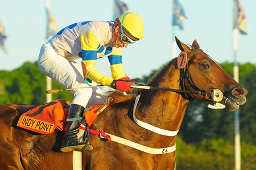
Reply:
[[[22,103],[40,105],[46,103],[46,76],[39,70],[37,62],[26,62],[19,69],[0,71],[0,84],[3,92],[0,104]],[[63,89],[52,80],[52,87]],[[71,92],[53,94],[52,99],[72,101]]]

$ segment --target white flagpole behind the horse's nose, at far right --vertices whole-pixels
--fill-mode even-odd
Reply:
[[[239,83],[239,67],[237,63],[237,49],[238,49],[238,30],[233,29],[233,45],[234,45],[234,80]],[[241,170],[241,139],[240,139],[240,120],[239,109],[234,111],[234,157],[235,169]]]

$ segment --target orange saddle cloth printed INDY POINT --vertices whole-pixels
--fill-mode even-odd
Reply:
[[[49,103],[39,105],[30,109],[20,116],[17,126],[40,134],[51,134],[55,129],[67,131],[68,108],[64,103],[71,104],[67,100],[53,100]],[[93,105],[85,111],[86,124],[90,126],[97,118],[96,113],[101,104]]]

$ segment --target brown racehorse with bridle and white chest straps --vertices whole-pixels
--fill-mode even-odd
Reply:
[[[191,47],[176,42],[181,60],[163,66],[147,83],[150,90],[139,91],[140,99],[133,94],[109,96],[109,107],[90,128],[104,130],[113,141],[90,134],[94,149],[82,152],[81,169],[174,169],[177,130],[189,100],[222,104],[230,112],[245,104],[247,90],[196,40]],[[42,135],[16,126],[20,114],[32,107],[0,106],[0,169],[73,169],[73,152],[60,152],[62,132]]]

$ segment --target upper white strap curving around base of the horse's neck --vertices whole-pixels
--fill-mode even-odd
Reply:
[[[133,119],[135,121],[135,123],[139,126],[141,126],[142,128],[145,128],[147,130],[150,130],[150,131],[153,131],[154,133],[158,133],[158,134],[161,134],[161,135],[166,135],[168,137],[174,137],[177,135],[178,131],[179,130],[176,130],[176,131],[170,131],[170,130],[164,130],[164,129],[160,129],[160,128],[157,128],[155,126],[152,126],[150,124],[147,124],[146,122],[142,122],[140,120],[138,120],[136,117],[135,117],[135,109],[137,107],[137,104],[138,104],[138,101],[139,101],[139,97],[141,97],[141,95],[138,95],[135,99],[135,103],[134,103],[134,107],[133,107]]]

